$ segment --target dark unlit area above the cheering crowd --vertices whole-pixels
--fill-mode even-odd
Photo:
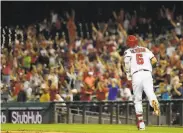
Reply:
[[[98,8],[101,8],[102,19],[109,18],[112,16],[112,10],[118,11],[120,8],[134,10],[138,8],[140,4],[146,5],[148,14],[154,14],[157,8],[161,5],[165,7],[173,7],[176,5],[176,11],[183,14],[183,2],[128,2],[128,1],[94,1],[94,2],[71,2],[71,1],[27,1],[27,2],[1,2],[1,24],[5,25],[26,25],[42,21],[45,17],[49,17],[50,10],[54,9],[59,14],[63,15],[64,10],[70,10],[71,8],[76,11],[76,20],[78,21],[93,21],[100,19],[97,16]],[[156,10],[155,10],[156,9]],[[138,12],[137,12],[138,13]]]

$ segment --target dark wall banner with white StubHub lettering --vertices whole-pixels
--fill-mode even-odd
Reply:
[[[19,107],[17,107],[19,106]],[[42,124],[53,123],[54,113],[51,103],[1,104],[1,123]]]

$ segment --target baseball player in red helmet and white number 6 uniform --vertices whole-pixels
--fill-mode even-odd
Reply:
[[[147,48],[138,46],[138,39],[129,35],[127,49],[124,52],[124,63],[127,79],[132,81],[134,105],[137,117],[137,128],[145,130],[142,109],[142,93],[145,92],[154,114],[159,116],[159,103],[153,90],[152,66],[157,63],[154,54]]]

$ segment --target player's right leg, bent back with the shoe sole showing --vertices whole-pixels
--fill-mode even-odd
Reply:
[[[149,100],[150,106],[154,109],[154,113],[159,116],[160,115],[159,102],[154,93],[153,79],[152,79],[151,73],[147,73],[147,77],[143,81],[143,88],[144,88],[144,92]]]

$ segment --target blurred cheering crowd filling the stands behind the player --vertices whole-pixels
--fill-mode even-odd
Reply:
[[[126,38],[158,59],[153,70],[159,99],[183,98],[182,8],[161,5],[111,10],[108,18],[76,21],[77,11],[50,11],[28,25],[1,28],[1,102],[132,100],[123,69]],[[102,9],[100,9],[102,10]],[[98,12],[102,16],[105,12]]]

